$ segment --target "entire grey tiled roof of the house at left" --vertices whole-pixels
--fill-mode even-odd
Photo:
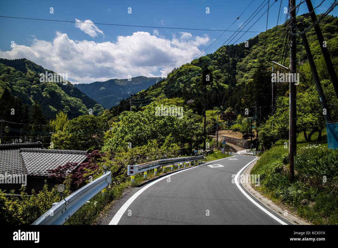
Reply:
[[[44,149],[41,142],[0,145],[0,174],[48,177],[47,170],[67,162],[82,163],[87,151]]]

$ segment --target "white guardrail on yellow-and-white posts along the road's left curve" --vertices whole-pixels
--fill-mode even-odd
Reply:
[[[174,164],[178,164],[178,169],[180,169],[180,164],[184,163],[184,168],[186,168],[186,162],[199,161],[203,159],[203,155],[193,156],[193,157],[185,157],[185,158],[173,158],[173,159],[161,159],[152,162],[147,162],[143,164],[137,165],[128,165],[128,176],[131,176],[131,183],[134,183],[135,175],[138,173],[144,172],[144,178],[147,178],[147,171],[151,169],[155,169],[154,174],[157,174],[157,168],[163,166],[163,172],[165,171],[166,165],[171,165],[171,170],[174,170]]]

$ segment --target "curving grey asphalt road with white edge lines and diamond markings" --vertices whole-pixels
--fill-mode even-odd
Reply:
[[[280,217],[256,199],[250,201],[242,185],[243,191],[234,183],[254,159],[236,154],[155,178],[115,202],[98,224],[281,224]]]

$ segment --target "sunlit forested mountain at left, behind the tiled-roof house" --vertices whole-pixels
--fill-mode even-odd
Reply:
[[[21,99],[29,107],[37,100],[47,119],[55,118],[58,110],[66,112],[70,119],[88,114],[89,109],[96,116],[103,113],[100,104],[70,82],[66,81],[67,85],[63,85],[61,78],[59,82],[54,82],[54,78],[52,82],[48,79],[40,82],[43,81],[40,74],[46,71],[54,73],[25,58],[0,58],[0,95],[7,87],[13,97]]]

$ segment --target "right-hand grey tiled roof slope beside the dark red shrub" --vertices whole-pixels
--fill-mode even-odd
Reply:
[[[67,162],[81,164],[86,158],[87,151],[49,150],[49,149],[20,149],[28,175],[48,177],[47,170],[55,169]]]

